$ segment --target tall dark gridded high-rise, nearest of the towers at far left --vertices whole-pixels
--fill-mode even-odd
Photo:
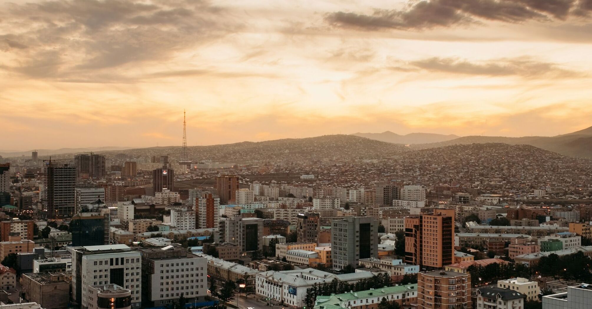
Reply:
[[[63,218],[76,213],[76,168],[47,162],[43,168],[43,209],[47,218]]]

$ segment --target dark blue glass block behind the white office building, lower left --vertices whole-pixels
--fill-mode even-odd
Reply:
[[[72,246],[100,246],[109,244],[110,209],[82,207],[70,221]]]

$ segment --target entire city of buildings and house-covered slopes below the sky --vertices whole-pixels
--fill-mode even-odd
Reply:
[[[592,308],[589,160],[349,138],[1,158],[0,308]]]

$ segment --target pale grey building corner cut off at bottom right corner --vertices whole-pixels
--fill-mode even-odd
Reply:
[[[567,292],[543,296],[543,309],[592,308],[592,285],[567,287]]]

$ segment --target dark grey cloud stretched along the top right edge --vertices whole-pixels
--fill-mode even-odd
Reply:
[[[332,12],[325,20],[337,27],[360,30],[425,30],[475,23],[480,19],[503,22],[564,20],[576,10],[592,9],[592,0],[431,0],[407,8],[375,9],[372,14]],[[590,4],[590,5],[589,5]]]

